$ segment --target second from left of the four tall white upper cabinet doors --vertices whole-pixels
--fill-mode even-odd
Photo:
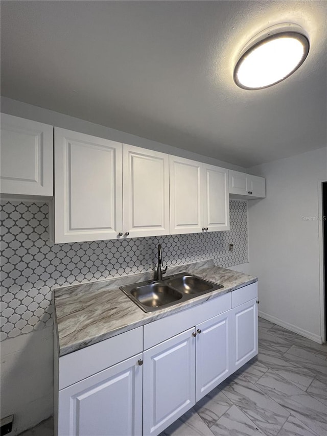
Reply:
[[[124,237],[169,235],[169,155],[123,144]]]

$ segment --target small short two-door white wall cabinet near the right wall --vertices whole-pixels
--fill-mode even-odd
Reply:
[[[231,198],[251,200],[266,196],[265,178],[229,170],[229,194]]]

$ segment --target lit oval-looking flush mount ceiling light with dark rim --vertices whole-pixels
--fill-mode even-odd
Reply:
[[[293,74],[309,53],[309,39],[300,26],[272,26],[252,38],[234,70],[235,83],[244,89],[262,89]]]

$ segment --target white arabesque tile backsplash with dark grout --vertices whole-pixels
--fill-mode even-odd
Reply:
[[[54,244],[48,203],[2,201],[1,340],[51,325],[54,287],[155,270],[158,243],[169,266],[247,262],[247,203],[230,200],[229,207],[227,232]]]

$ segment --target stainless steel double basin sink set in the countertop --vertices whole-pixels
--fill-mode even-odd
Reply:
[[[223,288],[188,272],[180,272],[163,280],[138,282],[120,289],[145,312],[164,309],[199,295]]]

